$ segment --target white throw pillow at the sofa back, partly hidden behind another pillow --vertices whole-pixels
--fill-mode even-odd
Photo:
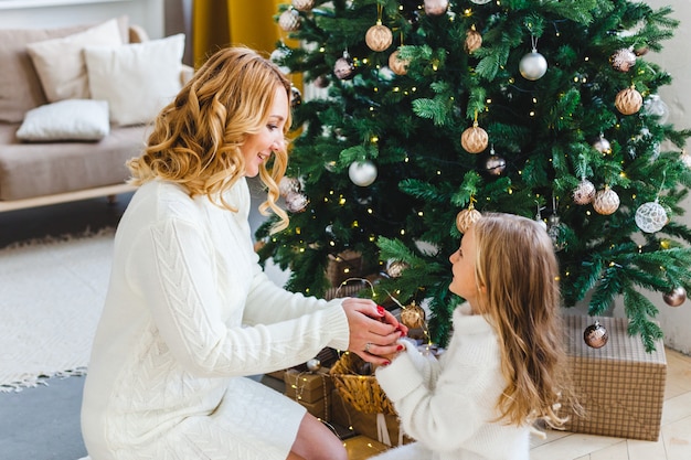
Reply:
[[[111,19],[62,39],[29,43],[26,52],[39,74],[45,97],[55,103],[89,97],[84,46],[121,44],[120,28],[117,20]]]

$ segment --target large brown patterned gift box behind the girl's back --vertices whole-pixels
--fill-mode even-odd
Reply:
[[[571,375],[585,413],[572,413],[566,430],[656,441],[660,434],[667,360],[661,340],[646,352],[639,335],[629,335],[625,318],[598,318],[609,334],[600,349],[583,340],[595,319],[566,317]],[[570,408],[565,408],[571,411]]]

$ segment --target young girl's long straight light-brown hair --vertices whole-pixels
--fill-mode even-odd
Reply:
[[[561,427],[566,418],[559,416],[560,405],[580,406],[565,368],[552,239],[538,222],[512,214],[483,214],[472,228],[477,282],[487,291],[477,309],[498,332],[508,383],[497,404],[499,419]]]

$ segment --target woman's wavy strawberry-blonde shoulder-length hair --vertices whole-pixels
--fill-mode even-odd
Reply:
[[[160,111],[143,153],[127,162],[132,175],[129,182],[176,182],[192,197],[205,195],[219,206],[237,211],[224,200],[224,192],[244,175],[240,148],[247,136],[266,126],[277,87],[283,87],[290,100],[290,82],[255,51],[217,51]],[[290,122],[288,115],[284,133]],[[280,218],[273,232],[288,226],[286,212],[276,204],[280,195],[278,182],[287,163],[284,142],[275,151],[270,167],[263,163],[259,168],[259,178],[267,188],[267,200],[259,211],[266,215],[270,208]]]

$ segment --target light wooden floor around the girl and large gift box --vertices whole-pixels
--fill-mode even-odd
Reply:
[[[531,460],[690,460],[691,356],[667,349],[662,428],[657,442],[548,431],[533,438]],[[369,438],[346,441],[350,460],[365,460],[385,446]]]

